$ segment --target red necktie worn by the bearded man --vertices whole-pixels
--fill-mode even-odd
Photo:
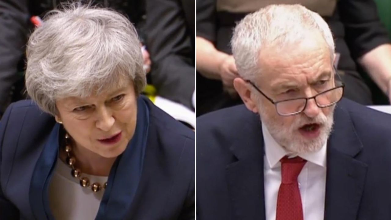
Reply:
[[[307,160],[285,156],[280,161],[282,181],[278,190],[276,220],[303,220],[297,177]]]

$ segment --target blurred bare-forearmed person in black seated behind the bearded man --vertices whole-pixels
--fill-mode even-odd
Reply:
[[[387,103],[379,96],[391,98],[391,45],[373,0],[198,0],[197,85],[203,90],[197,94],[197,115],[241,103],[233,90],[238,74],[229,47],[232,29],[246,14],[270,4],[301,4],[323,16],[335,38],[344,96],[364,105]],[[372,94],[371,79],[383,94],[376,89]]]

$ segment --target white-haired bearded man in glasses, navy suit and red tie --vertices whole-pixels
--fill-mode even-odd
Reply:
[[[391,219],[391,116],[342,98],[325,21],[269,5],[231,45],[244,105],[197,119],[197,219]]]

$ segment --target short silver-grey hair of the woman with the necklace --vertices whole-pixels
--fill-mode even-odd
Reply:
[[[98,95],[133,81],[146,84],[135,27],[120,13],[80,2],[50,11],[27,43],[26,88],[45,112],[56,100]]]

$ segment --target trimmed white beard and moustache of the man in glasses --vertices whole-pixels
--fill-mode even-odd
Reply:
[[[330,108],[332,108],[332,111],[328,116],[323,114],[323,112],[314,118],[309,118],[306,115],[301,114],[300,117],[294,120],[292,126],[289,128],[282,123],[278,123],[273,121],[273,119],[268,118],[262,111],[260,111],[260,117],[274,140],[287,151],[292,153],[316,152],[323,147],[332,131],[335,106]],[[305,139],[304,137],[301,137],[298,131],[298,128],[309,123],[321,124],[321,127],[319,127],[320,134],[316,139]]]

